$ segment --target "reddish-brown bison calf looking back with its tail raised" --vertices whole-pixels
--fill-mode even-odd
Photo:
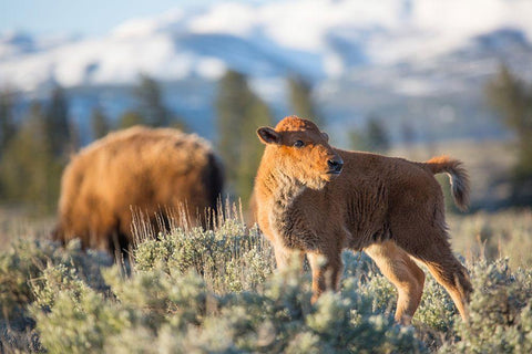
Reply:
[[[443,195],[433,177],[451,176],[454,200],[464,209],[469,181],[460,162],[438,157],[413,163],[340,150],[314,123],[295,116],[257,134],[266,144],[254,191],[258,225],[274,246],[278,267],[294,253],[307,256],[313,301],[337,289],[347,248],[366,251],[395,284],[398,322],[409,323],[421,300],[424,273],[413,259],[427,264],[467,317],[472,288],[452,254]]]

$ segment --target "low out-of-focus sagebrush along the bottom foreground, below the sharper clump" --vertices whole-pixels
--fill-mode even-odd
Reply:
[[[351,284],[310,305],[308,279],[299,270],[276,273],[264,292],[216,295],[195,272],[154,267],[123,277],[115,267],[105,280],[115,296],[80,283],[62,267],[48,269],[44,287],[57,290],[47,311],[32,306],[50,353],[298,353],[423,352],[413,329],[375,314],[371,301]],[[63,278],[58,282],[58,279]],[[58,284],[59,288],[58,288]],[[60,289],[62,288],[62,289]],[[41,292],[47,294],[49,292]],[[124,337],[127,339],[124,341]],[[156,346],[154,347],[154,343]]]

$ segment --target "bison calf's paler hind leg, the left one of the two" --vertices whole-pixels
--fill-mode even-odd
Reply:
[[[364,250],[377,263],[382,274],[397,288],[396,321],[410,324],[423,293],[424,273],[392,241],[374,243]]]

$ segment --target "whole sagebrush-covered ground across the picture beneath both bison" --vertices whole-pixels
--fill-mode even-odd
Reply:
[[[396,292],[364,254],[346,252],[341,291],[310,305],[308,273],[275,272],[269,244],[235,216],[215,231],[174,230],[155,240],[140,235],[127,272],[76,242],[61,249],[28,238],[45,233],[50,221],[43,227],[3,215],[0,225],[10,240],[0,251],[2,352],[532,350],[530,210],[451,217],[453,249],[475,288],[471,320],[462,323],[429,277],[411,327],[393,324]]]

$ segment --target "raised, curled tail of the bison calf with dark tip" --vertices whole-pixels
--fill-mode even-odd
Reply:
[[[460,210],[467,210],[469,206],[469,176],[462,162],[451,159],[448,156],[439,156],[429,159],[426,165],[434,175],[441,173],[449,175],[454,204]]]

